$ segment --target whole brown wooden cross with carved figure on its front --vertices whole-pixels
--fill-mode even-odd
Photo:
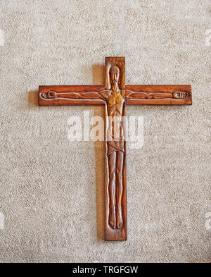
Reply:
[[[127,105],[191,105],[191,85],[125,85],[124,57],[106,58],[106,85],[40,86],[40,106],[105,105],[106,240],[127,240],[126,145]],[[117,118],[116,135],[113,119]]]

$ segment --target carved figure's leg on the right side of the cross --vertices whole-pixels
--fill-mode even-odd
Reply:
[[[117,217],[117,229],[122,228],[122,170],[123,170],[123,161],[124,161],[124,153],[121,151],[117,152],[116,159],[116,178],[117,178],[117,187],[116,187],[116,217]]]

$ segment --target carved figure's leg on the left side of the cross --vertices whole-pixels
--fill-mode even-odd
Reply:
[[[109,225],[113,229],[116,228],[116,216],[115,216],[115,161],[116,161],[116,152],[113,152],[108,156]]]

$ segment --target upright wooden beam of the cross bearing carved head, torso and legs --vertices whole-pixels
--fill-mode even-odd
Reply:
[[[127,240],[124,57],[106,58],[106,90],[106,240]]]

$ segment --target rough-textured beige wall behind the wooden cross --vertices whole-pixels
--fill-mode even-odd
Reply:
[[[0,4],[0,261],[210,260],[210,1],[7,0]],[[98,85],[106,56],[126,83],[190,84],[192,106],[129,106],[128,240],[105,242],[103,142],[70,142],[39,85]],[[4,221],[4,222],[2,222]]]

